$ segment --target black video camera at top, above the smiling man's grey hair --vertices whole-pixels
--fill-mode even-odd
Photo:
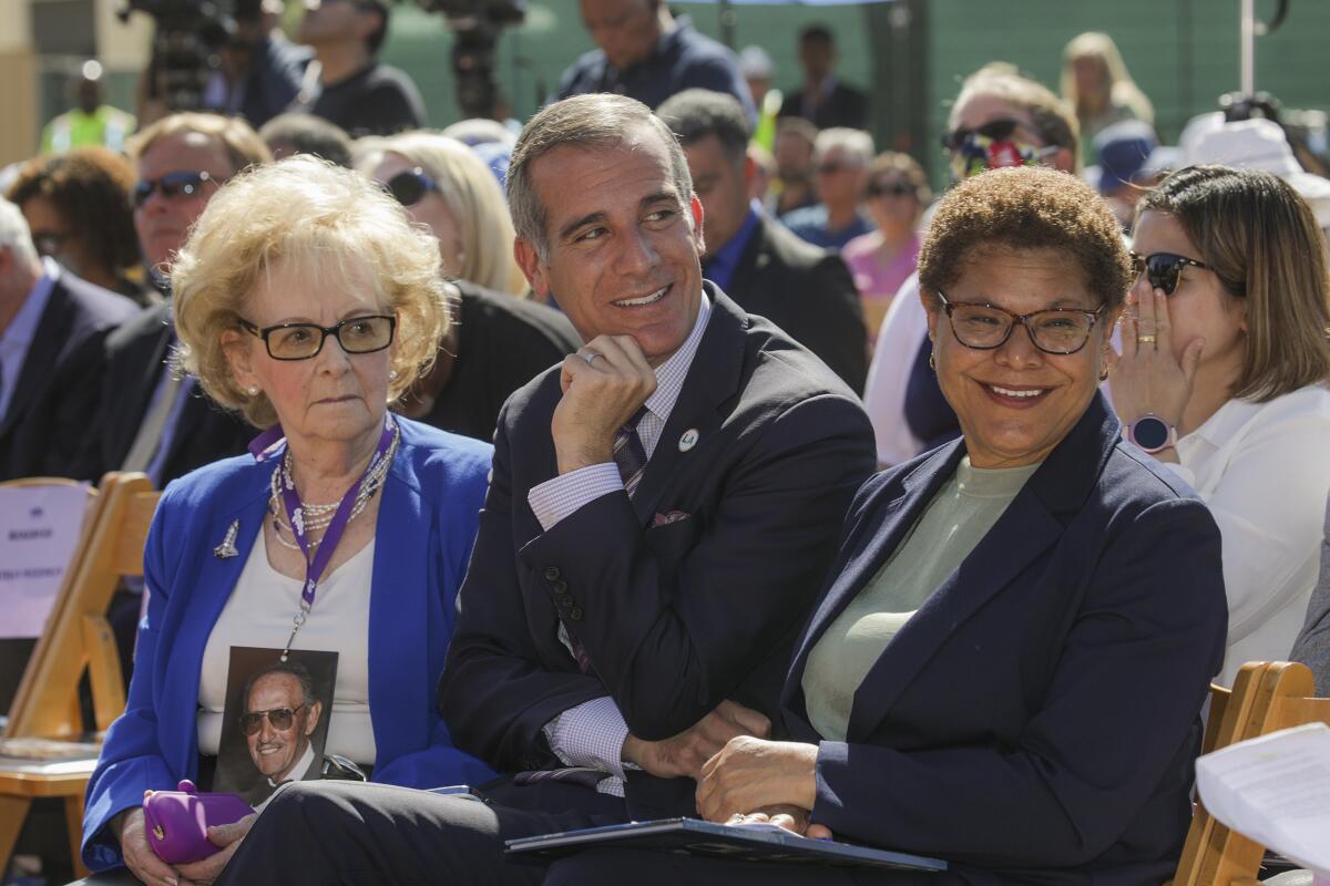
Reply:
[[[500,32],[527,17],[527,0],[416,0],[438,12],[452,31],[452,73],[464,117],[493,117],[497,86],[495,44]]]

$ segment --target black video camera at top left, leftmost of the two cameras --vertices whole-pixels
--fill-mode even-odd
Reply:
[[[156,23],[148,96],[172,110],[200,110],[221,49],[235,33],[231,0],[128,0],[116,15],[128,21],[133,12]]]

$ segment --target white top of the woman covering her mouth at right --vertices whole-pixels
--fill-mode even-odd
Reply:
[[[1330,493],[1330,391],[1309,385],[1270,402],[1229,400],[1177,441],[1173,469],[1209,505],[1224,538],[1233,685],[1246,662],[1286,660],[1317,583]]]

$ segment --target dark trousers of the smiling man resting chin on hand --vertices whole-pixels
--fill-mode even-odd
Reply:
[[[505,840],[626,820],[621,798],[579,785],[500,780],[481,792],[488,802],[351,781],[287,785],[217,883],[531,886],[545,869],[507,862]]]

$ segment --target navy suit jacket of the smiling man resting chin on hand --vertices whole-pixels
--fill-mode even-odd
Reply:
[[[496,769],[556,765],[543,727],[605,695],[649,741],[725,699],[777,719],[835,527],[874,468],[872,430],[821,360],[705,286],[710,320],[632,499],[602,495],[543,531],[527,491],[559,473],[557,367],[504,406],[439,687],[458,747]],[[598,676],[560,643],[560,620]],[[693,790],[634,773],[629,810],[692,813]]]

